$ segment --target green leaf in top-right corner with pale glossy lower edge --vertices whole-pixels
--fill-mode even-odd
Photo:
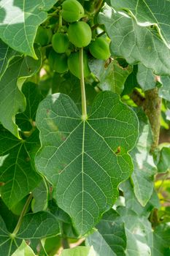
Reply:
[[[116,10],[125,10],[129,15],[134,15],[141,26],[158,26],[162,39],[169,47],[169,0],[111,0],[111,4]]]

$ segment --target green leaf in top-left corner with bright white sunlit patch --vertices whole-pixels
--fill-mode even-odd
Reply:
[[[0,20],[0,38],[14,50],[37,59],[34,39],[38,26],[47,19],[47,10],[57,0],[13,1],[1,0],[4,10]]]

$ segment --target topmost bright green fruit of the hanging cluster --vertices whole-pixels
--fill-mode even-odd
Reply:
[[[77,0],[66,0],[63,2],[61,15],[67,22],[80,20],[84,14],[82,4]]]

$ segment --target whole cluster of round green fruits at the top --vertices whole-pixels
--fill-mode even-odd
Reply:
[[[85,16],[85,10],[77,0],[63,1],[62,10],[60,11],[61,18],[66,22],[66,26],[59,26],[58,31],[52,35],[47,31],[47,36],[39,43],[41,45],[49,44],[52,39],[53,50],[48,56],[50,67],[58,73],[66,71],[72,72],[77,78],[80,78],[80,54],[79,48],[84,50],[84,75],[90,75],[88,67],[88,50],[96,59],[106,60],[110,56],[109,41],[106,37],[96,37],[92,39],[92,31],[88,23],[82,19]],[[36,34],[36,42],[38,41],[39,33],[42,31],[40,26]],[[74,45],[74,48],[73,48]]]

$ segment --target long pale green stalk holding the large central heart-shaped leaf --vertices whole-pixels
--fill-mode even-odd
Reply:
[[[83,48],[80,48],[80,85],[82,95],[82,119],[87,119],[86,97],[85,97],[85,78],[84,78],[84,63],[83,63]]]

